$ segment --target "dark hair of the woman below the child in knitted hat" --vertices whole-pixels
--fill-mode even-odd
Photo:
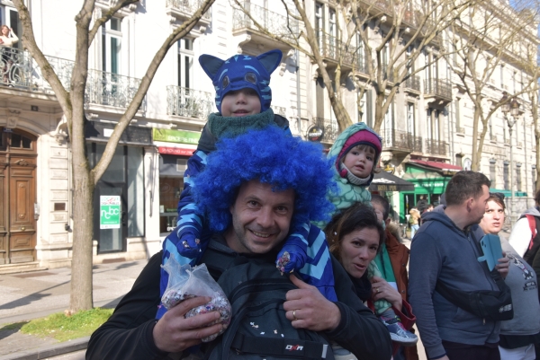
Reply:
[[[372,206],[356,203],[341,213],[334,215],[324,228],[332,255],[341,261],[340,250],[343,237],[365,228],[377,230],[379,233],[379,249],[381,249],[384,241],[383,224],[379,223]]]

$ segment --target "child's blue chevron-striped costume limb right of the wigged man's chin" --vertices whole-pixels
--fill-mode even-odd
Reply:
[[[304,282],[317,287],[329,301],[338,301],[329,245],[316,225],[302,224],[293,231],[277,255],[276,266],[284,273],[298,271]]]

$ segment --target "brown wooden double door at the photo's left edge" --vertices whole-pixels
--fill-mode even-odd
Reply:
[[[36,137],[0,127],[0,265],[35,260]]]

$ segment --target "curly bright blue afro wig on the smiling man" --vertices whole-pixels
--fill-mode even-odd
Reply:
[[[332,162],[324,158],[319,144],[271,126],[223,138],[216,147],[206,169],[193,180],[193,198],[211,231],[229,227],[229,206],[240,185],[249,180],[271,184],[275,190],[294,189],[292,229],[309,221],[329,220],[334,206],[327,193],[337,191],[337,185],[332,180]]]

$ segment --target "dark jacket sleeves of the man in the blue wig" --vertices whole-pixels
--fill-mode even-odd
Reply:
[[[212,243],[209,246],[213,246]],[[233,250],[223,250],[223,256],[230,257]],[[266,257],[274,262],[275,254]],[[202,262],[204,258],[202,258]],[[142,270],[133,288],[118,304],[112,316],[96,329],[88,343],[86,359],[95,360],[147,360],[164,359],[167,354],[159,351],[154,344],[152,331],[156,324],[155,315],[159,304],[159,265],[161,252],[154,255]],[[359,360],[390,359],[392,344],[388,330],[358,299],[347,272],[332,258],[336,277],[336,305],[341,312],[338,328],[327,331],[326,335],[342,347],[346,347]],[[276,270],[277,271],[277,270]],[[216,278],[217,274],[211,276]]]

